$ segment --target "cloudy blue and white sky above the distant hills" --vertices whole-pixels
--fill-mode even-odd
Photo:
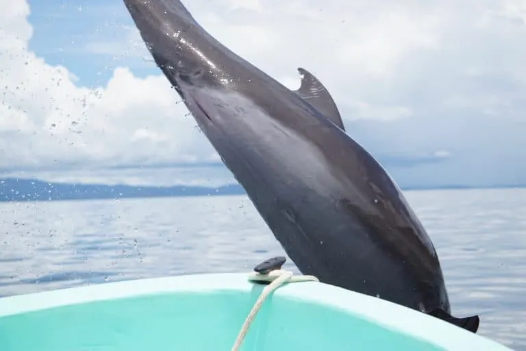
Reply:
[[[291,89],[297,67],[401,186],[526,184],[526,0],[186,0]],[[0,178],[235,182],[121,0],[0,0]]]

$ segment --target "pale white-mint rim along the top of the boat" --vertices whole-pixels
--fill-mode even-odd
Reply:
[[[0,298],[0,319],[49,308],[147,295],[225,291],[250,293],[253,289],[254,283],[249,282],[248,275],[242,273],[121,280]],[[377,324],[380,328],[400,332],[447,350],[465,350],[466,346],[486,350],[511,350],[497,341],[475,335],[405,306],[321,282],[293,282],[280,287],[273,294],[273,299],[293,298],[306,304],[336,308]],[[414,328],[415,325],[418,328]]]

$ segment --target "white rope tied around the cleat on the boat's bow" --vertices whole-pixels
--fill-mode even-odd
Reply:
[[[286,284],[287,282],[319,281],[318,278],[316,278],[315,276],[294,276],[291,271],[286,271],[284,269],[275,269],[274,271],[270,271],[268,274],[251,273],[249,275],[249,280],[253,282],[271,283],[263,289],[260,297],[258,298],[258,300],[256,300],[254,306],[252,307],[252,310],[247,316],[247,319],[245,319],[245,323],[239,331],[238,338],[236,339],[236,343],[234,343],[234,346],[232,347],[231,351],[239,350],[243,339],[245,339],[245,336],[247,336],[247,332],[249,331],[249,328],[253,320],[255,319],[255,315],[258,313],[258,311],[260,311],[260,308],[263,305],[263,302],[265,302],[266,298],[268,298],[268,295],[270,295],[275,289],[277,289],[281,285]]]

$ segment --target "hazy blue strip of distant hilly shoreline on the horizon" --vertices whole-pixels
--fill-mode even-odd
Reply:
[[[520,189],[526,186],[405,186],[403,191],[460,189]],[[140,199],[152,197],[195,197],[245,195],[239,184],[210,186],[132,186],[46,182],[29,178],[0,178],[0,202],[39,202],[95,199]]]

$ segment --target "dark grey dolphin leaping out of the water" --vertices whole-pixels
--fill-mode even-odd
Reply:
[[[178,0],[124,0],[156,64],[303,274],[451,317],[434,245],[397,184],[345,133],[305,69],[289,90],[214,39]]]

